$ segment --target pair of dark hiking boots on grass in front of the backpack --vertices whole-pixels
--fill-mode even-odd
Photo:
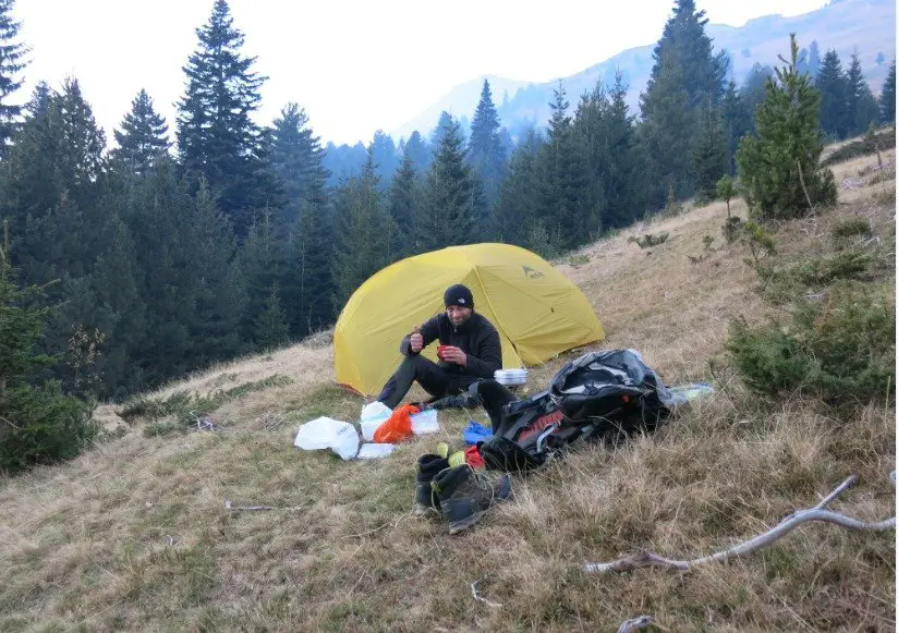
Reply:
[[[450,466],[449,460],[438,454],[424,454],[417,460],[415,514],[430,510],[442,513],[449,522],[449,534],[471,527],[495,501],[510,496],[508,474],[493,484],[469,464]]]

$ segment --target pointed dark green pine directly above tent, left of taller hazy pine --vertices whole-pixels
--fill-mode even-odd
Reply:
[[[459,124],[449,117],[427,172],[418,243],[424,251],[470,244],[474,238],[474,183]]]

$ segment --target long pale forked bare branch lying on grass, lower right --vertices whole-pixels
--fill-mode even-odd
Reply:
[[[583,565],[583,569],[587,572],[598,573],[626,572],[643,567],[662,567],[687,571],[702,563],[712,561],[727,561],[731,558],[753,553],[759,549],[767,547],[768,545],[772,545],[773,543],[779,540],[780,538],[792,532],[796,527],[798,527],[802,523],[808,523],[809,521],[824,521],[826,523],[835,523],[836,525],[848,527],[849,529],[894,529],[896,519],[895,516],[893,516],[891,519],[886,519],[885,521],[878,521],[876,523],[864,523],[863,521],[858,521],[857,519],[852,519],[850,516],[846,516],[845,514],[839,514],[838,512],[832,512],[825,509],[829,503],[832,503],[836,499],[836,497],[841,495],[851,484],[853,484],[855,479],[857,477],[854,475],[851,475],[845,482],[842,482],[838,488],[833,490],[829,495],[826,496],[825,499],[823,499],[813,508],[793,512],[792,514],[780,521],[776,526],[774,526],[768,532],[765,532],[760,536],[755,536],[751,540],[740,543],[739,545],[736,545],[723,551],[718,551],[708,556],[703,556],[702,558],[696,558],[693,560],[671,560],[668,558],[660,557],[651,551],[643,551],[638,555],[621,558],[611,562],[585,563]]]

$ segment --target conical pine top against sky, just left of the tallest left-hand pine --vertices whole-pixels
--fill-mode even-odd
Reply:
[[[153,99],[141,89],[131,102],[131,112],[122,120],[121,131],[113,131],[119,144],[112,158],[129,173],[143,175],[171,146],[168,124],[153,108]]]

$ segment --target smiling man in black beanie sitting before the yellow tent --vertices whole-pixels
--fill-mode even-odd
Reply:
[[[444,294],[446,312],[427,320],[402,339],[399,351],[405,356],[377,400],[395,409],[417,380],[435,399],[456,395],[502,368],[499,332],[474,312],[474,296],[468,287],[451,285]],[[438,340],[439,364],[421,356],[421,350]]]

